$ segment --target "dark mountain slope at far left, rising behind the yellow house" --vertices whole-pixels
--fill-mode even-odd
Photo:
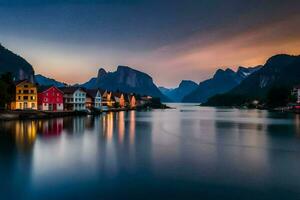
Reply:
[[[14,80],[34,79],[33,67],[22,57],[0,44],[0,74],[11,72]]]

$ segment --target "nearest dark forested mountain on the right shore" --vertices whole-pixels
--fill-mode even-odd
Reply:
[[[207,105],[222,105],[224,97],[226,104],[242,104],[249,100],[265,100],[272,88],[288,88],[300,84],[300,56],[279,54],[269,58],[266,64],[257,72],[248,76],[240,85],[224,95],[216,96]],[[226,95],[226,96],[225,96]],[[235,102],[233,97],[239,97]]]

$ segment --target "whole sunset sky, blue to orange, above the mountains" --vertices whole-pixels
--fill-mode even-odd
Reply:
[[[298,0],[0,0],[0,43],[70,84],[127,65],[175,87],[299,55],[299,10]]]

